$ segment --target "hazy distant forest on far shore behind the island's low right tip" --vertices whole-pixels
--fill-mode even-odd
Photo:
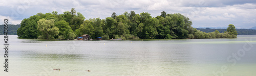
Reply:
[[[225,31],[227,31],[227,29],[210,29],[210,28],[206,28],[206,29],[201,29],[201,28],[196,28],[197,30],[209,33],[209,32],[214,32],[215,30],[218,30],[220,33],[224,33]],[[238,35],[256,35],[256,30],[253,29],[236,29]]]

